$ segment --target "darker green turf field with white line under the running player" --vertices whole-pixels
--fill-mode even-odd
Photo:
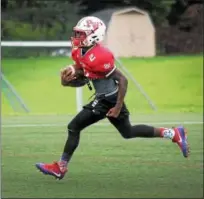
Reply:
[[[16,116],[2,120],[2,197],[201,198],[201,114],[138,115],[137,123],[185,124],[189,159],[164,139],[124,140],[107,121],[82,132],[81,145],[61,181],[37,172],[36,162],[58,160],[70,116]]]

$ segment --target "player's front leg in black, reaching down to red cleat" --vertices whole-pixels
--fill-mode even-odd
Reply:
[[[100,103],[97,104],[94,101],[94,106],[98,105],[100,107]],[[105,111],[98,113],[95,112],[92,107],[93,102],[85,106],[85,108],[78,113],[72,121],[68,124],[68,138],[64,146],[64,150],[60,161],[54,162],[53,164],[45,164],[45,163],[37,163],[36,167],[43,172],[44,174],[52,175],[57,179],[62,179],[67,172],[67,165],[79,145],[80,140],[80,132],[90,126],[98,122],[99,120],[105,118]],[[97,108],[96,108],[97,109]]]

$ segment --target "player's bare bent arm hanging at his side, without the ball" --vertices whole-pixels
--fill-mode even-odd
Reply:
[[[123,106],[123,102],[127,92],[128,80],[118,69],[116,69],[111,76],[118,82],[119,90],[115,107],[120,110]]]

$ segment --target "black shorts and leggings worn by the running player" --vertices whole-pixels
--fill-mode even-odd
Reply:
[[[71,158],[79,144],[80,132],[86,127],[106,118],[106,113],[114,107],[117,96],[95,98],[92,102],[85,105],[68,124],[68,139],[64,147],[64,153],[67,154],[67,160]],[[135,137],[153,137],[154,128],[147,125],[130,124],[129,111],[124,104],[118,118],[109,118],[110,123],[115,126],[121,136],[125,139]]]

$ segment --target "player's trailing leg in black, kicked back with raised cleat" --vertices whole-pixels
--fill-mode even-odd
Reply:
[[[168,138],[177,143],[183,156],[188,157],[189,146],[187,142],[186,130],[183,127],[164,128],[153,127],[150,125],[138,124],[131,125],[128,110],[125,105],[122,108],[118,118],[108,118],[111,124],[120,132],[125,139],[143,137],[143,138]]]

